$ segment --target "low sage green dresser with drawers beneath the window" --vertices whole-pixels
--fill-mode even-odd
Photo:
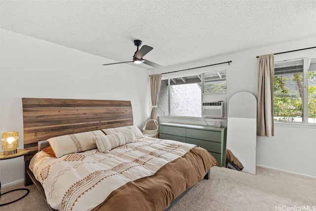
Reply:
[[[217,160],[218,166],[226,162],[226,127],[193,125],[183,123],[161,123],[159,139],[193,143],[209,151]]]

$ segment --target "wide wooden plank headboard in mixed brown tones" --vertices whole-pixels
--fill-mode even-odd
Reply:
[[[29,161],[38,141],[52,137],[133,125],[130,101],[22,98],[24,148]]]

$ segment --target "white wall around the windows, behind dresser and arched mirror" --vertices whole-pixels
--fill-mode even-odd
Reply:
[[[316,46],[316,37],[282,43],[270,47],[246,50],[244,52],[205,59],[190,64],[179,65],[160,70],[160,73],[176,70],[185,70],[205,65],[232,61],[230,65],[223,64],[207,68],[186,70],[163,74],[162,77],[178,76],[181,74],[199,73],[210,70],[227,70],[227,102],[233,94],[246,91],[257,97],[258,67],[256,56],[285,52]],[[316,56],[316,49],[296,51],[275,55],[275,61],[295,59],[307,56]],[[229,107],[229,105],[227,105]],[[159,122],[180,122],[192,124],[206,124],[201,118],[181,118],[160,116]],[[214,125],[215,120],[206,120],[207,124]],[[218,121],[218,120],[216,120]],[[225,120],[221,120],[227,126]],[[229,128],[228,128],[229,130]],[[316,125],[276,123],[275,136],[272,138],[257,136],[257,165],[276,168],[284,171],[316,176]],[[247,147],[247,146],[245,146]]]

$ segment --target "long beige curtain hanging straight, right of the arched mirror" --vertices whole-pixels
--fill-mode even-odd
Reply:
[[[273,89],[275,56],[259,56],[257,135],[274,136]]]

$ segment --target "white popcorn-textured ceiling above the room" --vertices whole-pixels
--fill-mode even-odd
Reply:
[[[164,67],[316,36],[316,0],[0,0],[0,9],[2,29],[118,62],[140,39],[154,48],[144,59]]]

